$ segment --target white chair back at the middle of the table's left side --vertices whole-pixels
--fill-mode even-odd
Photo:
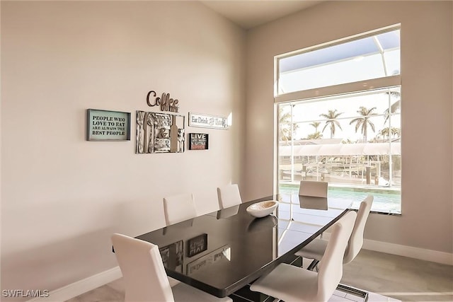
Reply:
[[[164,214],[167,226],[195,218],[197,211],[193,194],[178,194],[164,198]]]

